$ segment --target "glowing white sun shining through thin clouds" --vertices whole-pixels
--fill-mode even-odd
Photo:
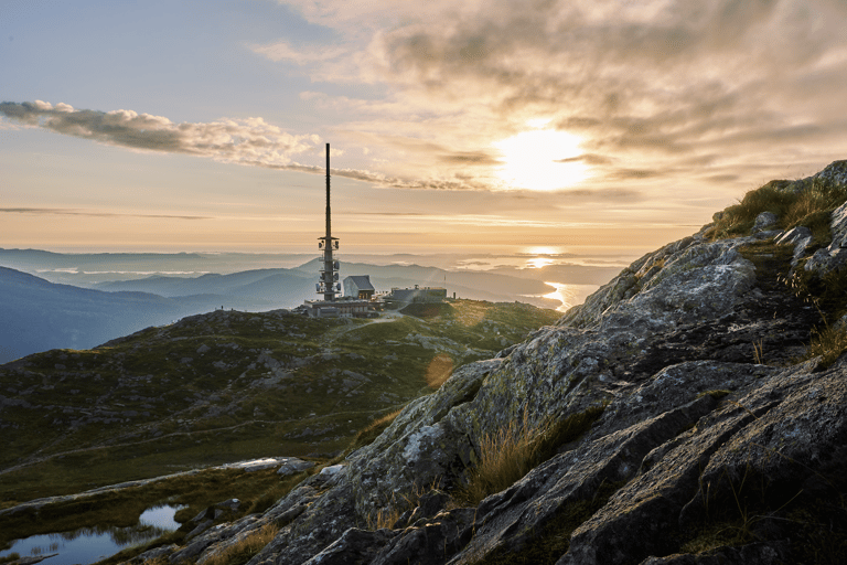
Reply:
[[[579,160],[581,138],[555,129],[522,131],[494,143],[503,156],[496,173],[508,189],[554,191],[578,184],[589,174]]]

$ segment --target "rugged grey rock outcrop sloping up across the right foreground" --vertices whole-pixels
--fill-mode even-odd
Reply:
[[[847,191],[846,169],[816,178]],[[556,326],[457,370],[341,467],[171,563],[203,563],[269,522],[279,534],[251,565],[838,563],[847,358],[797,361],[822,320],[778,275],[840,256],[843,207],[817,249],[768,216],[746,236],[704,230],[646,255]],[[582,437],[505,490],[472,508],[446,494],[497,430],[589,409],[602,415]]]

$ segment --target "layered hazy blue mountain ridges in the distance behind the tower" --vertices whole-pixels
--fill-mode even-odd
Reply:
[[[148,265],[150,257],[132,254],[76,256],[39,250],[0,250],[0,262],[28,267],[39,273],[49,265],[53,273],[67,269],[96,269],[96,257],[107,257],[100,269],[116,270]],[[154,257],[157,260],[158,256]],[[176,264],[174,260],[184,259]],[[203,256],[163,256],[172,267],[191,269]],[[147,263],[144,263],[147,262]],[[293,308],[315,298],[318,259],[296,268],[253,269],[227,275],[194,277],[154,275],[130,280],[89,282],[89,288],[56,284],[21,270],[0,267],[0,363],[49,349],[90,349],[111,339],[149,326],[171,323],[185,316],[215,309],[267,311]],[[186,269],[186,270],[187,270]],[[371,275],[377,290],[414,285],[446,287],[448,296],[489,301],[524,301],[555,308],[557,302],[540,298],[550,288],[540,280],[490,271],[448,271],[417,265],[378,266],[342,264],[342,278]]]

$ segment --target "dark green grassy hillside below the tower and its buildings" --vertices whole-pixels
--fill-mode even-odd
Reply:
[[[470,300],[377,320],[215,311],[0,365],[0,508],[245,458],[335,452],[452,367],[558,316]]]

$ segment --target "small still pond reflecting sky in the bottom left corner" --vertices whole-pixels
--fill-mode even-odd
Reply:
[[[173,520],[173,515],[181,508],[184,507],[161,505],[147,509],[138,519],[138,524],[131,527],[83,527],[75,532],[33,535],[17,540],[11,548],[0,552],[0,557],[11,553],[17,553],[21,557],[52,555],[41,563],[88,565],[176,530],[180,524]]]

